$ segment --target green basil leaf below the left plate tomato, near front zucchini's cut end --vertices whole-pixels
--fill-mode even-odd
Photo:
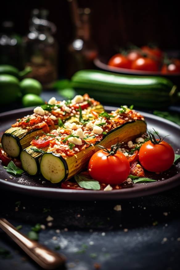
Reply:
[[[76,174],[74,178],[80,187],[85,189],[100,190],[100,184],[96,180],[88,179],[80,174]]]

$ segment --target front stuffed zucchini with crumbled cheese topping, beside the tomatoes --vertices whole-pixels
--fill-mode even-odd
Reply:
[[[60,139],[51,140],[41,158],[41,173],[52,183],[67,180],[87,166],[98,145],[110,148],[117,141],[133,140],[145,131],[144,118],[125,106],[111,114],[102,112],[96,120],[76,130],[63,129]]]

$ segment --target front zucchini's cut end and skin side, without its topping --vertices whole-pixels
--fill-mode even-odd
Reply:
[[[109,131],[102,141],[78,152],[72,157],[63,158],[55,153],[45,153],[40,161],[40,170],[44,178],[52,183],[58,183],[73,177],[88,165],[90,157],[103,145],[110,148],[119,142],[128,142],[146,132],[146,123],[142,120],[126,122],[125,124]]]

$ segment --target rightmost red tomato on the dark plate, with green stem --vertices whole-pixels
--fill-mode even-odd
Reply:
[[[174,150],[166,141],[159,144],[147,141],[139,150],[139,161],[150,172],[163,172],[173,165]]]

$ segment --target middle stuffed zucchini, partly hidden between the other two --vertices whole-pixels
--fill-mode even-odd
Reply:
[[[63,122],[59,122],[59,128],[56,130],[52,130],[50,133],[41,133],[41,136],[35,137],[31,141],[31,145],[22,150],[20,154],[20,159],[22,163],[22,168],[30,175],[35,175],[39,173],[39,161],[43,155],[43,153],[47,152],[50,142],[56,138],[57,141],[61,140],[61,133],[63,133],[65,129],[73,129],[76,130],[82,125],[80,121],[90,121],[98,117],[99,113],[102,112],[103,106],[99,104],[99,102],[90,99],[88,95],[85,96],[88,98],[88,107],[85,108],[83,103],[80,103],[81,115],[79,109],[77,109],[76,114],[72,117],[68,117],[63,120]],[[73,101],[72,101],[73,104]]]

